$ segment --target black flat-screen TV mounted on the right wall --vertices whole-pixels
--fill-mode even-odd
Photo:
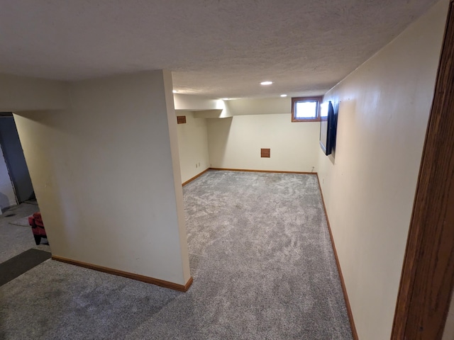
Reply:
[[[337,116],[337,110],[334,110],[331,101],[321,103],[320,146],[326,156],[331,154],[336,146]]]

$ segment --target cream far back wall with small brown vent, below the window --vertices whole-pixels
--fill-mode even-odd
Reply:
[[[320,123],[292,123],[290,113],[208,120],[211,167],[317,171]],[[271,157],[261,158],[260,149]]]

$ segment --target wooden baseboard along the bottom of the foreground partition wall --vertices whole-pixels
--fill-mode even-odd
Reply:
[[[150,278],[149,276],[138,275],[134,273],[128,273],[127,271],[118,271],[116,269],[107,268],[103,266],[96,266],[96,264],[85,263],[81,261],[76,261],[72,259],[66,259],[65,257],[52,255],[52,260],[65,262],[73,264],[74,266],[89,268],[94,271],[102,271],[103,273],[108,273],[116,276],[123,276],[123,278],[132,278],[133,280],[138,280],[146,283],[152,283],[153,285],[159,285],[160,287],[169,288],[173,290],[179,290],[180,292],[186,292],[189,287],[192,285],[192,277],[187,280],[185,285],[179,285],[177,283],[160,280],[158,278]]]

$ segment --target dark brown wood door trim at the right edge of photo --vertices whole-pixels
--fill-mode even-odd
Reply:
[[[440,340],[454,288],[454,8],[428,119],[391,339]]]

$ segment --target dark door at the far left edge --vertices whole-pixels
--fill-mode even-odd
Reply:
[[[18,203],[35,197],[14,118],[0,117],[0,146]]]

